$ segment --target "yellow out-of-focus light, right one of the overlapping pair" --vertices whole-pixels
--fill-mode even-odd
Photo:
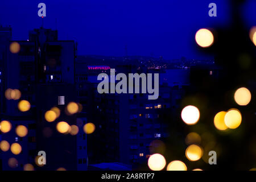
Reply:
[[[242,122],[242,115],[238,109],[230,109],[225,114],[224,121],[230,129],[236,129]]]

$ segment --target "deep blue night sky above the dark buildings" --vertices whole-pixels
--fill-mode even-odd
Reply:
[[[14,39],[26,40],[42,24],[40,2],[47,6],[44,27],[57,27],[61,40],[76,40],[79,55],[123,56],[127,45],[129,55],[204,59],[192,44],[196,30],[230,22],[228,0],[1,0],[0,24],[13,27]],[[214,18],[208,16],[211,2],[217,4]],[[256,1],[245,10],[247,24],[256,25]]]

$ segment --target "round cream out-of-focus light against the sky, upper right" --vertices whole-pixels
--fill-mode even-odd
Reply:
[[[206,28],[201,28],[196,32],[196,43],[201,47],[210,47],[213,44],[214,37],[212,32]]]

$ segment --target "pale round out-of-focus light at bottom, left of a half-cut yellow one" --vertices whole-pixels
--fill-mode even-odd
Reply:
[[[166,159],[161,154],[153,154],[148,158],[147,165],[152,171],[160,171],[166,166]]]

